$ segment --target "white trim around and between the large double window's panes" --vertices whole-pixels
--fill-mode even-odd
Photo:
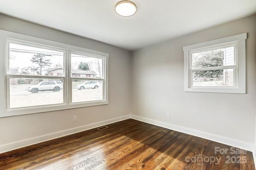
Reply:
[[[41,105],[41,106],[32,106],[32,107],[25,107],[25,108],[7,108],[7,100],[9,91],[7,91],[7,85],[9,85],[7,81],[7,74],[9,73],[9,64],[6,64],[8,62],[8,54],[7,54],[7,45],[6,45],[6,38],[10,40],[16,40],[21,42],[32,42],[33,44],[38,44],[40,46],[44,47],[53,47],[53,48],[59,48],[59,49],[65,49],[67,50],[66,58],[65,58],[65,76],[40,76],[40,77],[47,77],[47,79],[63,79],[63,88],[66,89],[66,92],[64,92],[63,96],[65,96],[66,103],[62,104],[54,104],[54,105]],[[76,105],[69,105],[68,101],[68,53],[69,51],[80,51],[83,53],[90,54],[92,56],[101,56],[105,59],[105,100],[99,101],[99,102],[87,102],[87,103],[78,103]],[[7,116],[16,116],[16,115],[23,115],[23,114],[31,114],[31,113],[41,113],[41,112],[48,112],[48,111],[58,111],[58,110],[64,110],[64,109],[71,109],[71,108],[81,108],[81,107],[88,107],[88,106],[96,106],[96,105],[106,105],[108,104],[108,57],[109,54],[99,51],[90,50],[87,48],[82,48],[74,45],[64,44],[61,42],[55,42],[51,40],[45,40],[37,37],[27,36],[23,34],[18,34],[10,31],[4,31],[0,30],[0,54],[4,57],[0,58],[0,63],[3,63],[4,70],[0,71],[0,76],[4,77],[1,81],[3,83],[0,83],[0,88],[3,89],[4,98],[0,98],[0,117],[7,117]],[[65,55],[65,54],[64,54]],[[104,72],[104,71],[103,71]],[[20,74],[9,74],[9,76],[13,77],[35,77],[39,78],[37,75],[20,75]],[[65,79],[65,80],[64,80]],[[87,78],[87,79],[94,79],[94,78]],[[104,87],[103,87],[104,88]]]

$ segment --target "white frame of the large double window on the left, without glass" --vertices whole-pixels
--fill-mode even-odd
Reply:
[[[61,50],[64,51],[64,75],[63,76],[38,76],[38,75],[20,75],[20,74],[9,74],[9,54],[8,54],[8,42],[23,43],[23,45],[34,45],[41,46],[43,48],[50,48],[52,50]],[[25,43],[25,44],[24,44]],[[81,53],[93,56],[100,57],[104,61],[103,66],[103,74],[104,77],[104,87],[103,87],[103,100],[100,101],[90,101],[90,102],[81,102],[73,104],[72,100],[70,100],[70,91],[72,93],[72,88],[70,88],[72,84],[70,84],[70,69],[71,63],[70,61],[70,51],[79,51]],[[0,77],[4,77],[4,79],[0,80],[0,95],[4,96],[0,98],[0,117],[7,116],[15,116],[15,115],[23,115],[30,113],[41,113],[47,111],[58,111],[70,108],[81,108],[87,106],[96,106],[96,105],[106,105],[108,104],[108,57],[109,54],[93,51],[86,48],[77,47],[74,45],[68,45],[60,42],[45,40],[37,37],[31,37],[23,34],[17,34],[10,31],[0,30],[0,64],[2,64],[3,68],[0,71]],[[24,108],[10,108],[9,107],[9,77],[28,77],[28,78],[46,78],[46,79],[63,79],[63,103],[61,104],[53,104],[53,105],[40,105],[40,106],[32,106],[32,107],[24,107]],[[79,79],[76,77],[75,79]],[[88,79],[88,78],[86,78]],[[93,79],[94,78],[89,78]]]

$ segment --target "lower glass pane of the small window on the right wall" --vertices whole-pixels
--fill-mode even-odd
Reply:
[[[233,86],[233,68],[192,71],[192,86]]]

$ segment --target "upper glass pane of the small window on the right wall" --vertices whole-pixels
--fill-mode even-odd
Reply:
[[[192,53],[192,68],[234,65],[234,47]]]

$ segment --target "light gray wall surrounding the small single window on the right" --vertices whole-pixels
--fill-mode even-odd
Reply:
[[[248,32],[247,94],[183,90],[183,46]],[[132,113],[181,127],[254,143],[256,15],[132,53]],[[171,119],[166,118],[171,113]]]

